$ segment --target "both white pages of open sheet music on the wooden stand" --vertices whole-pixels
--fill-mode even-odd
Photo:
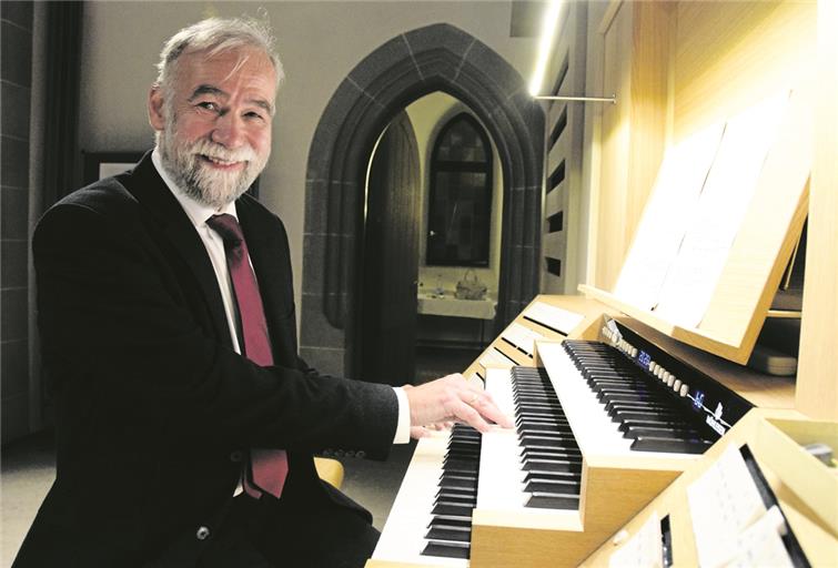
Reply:
[[[698,327],[754,200],[806,183],[811,89],[783,90],[667,151],[614,288],[618,298]]]

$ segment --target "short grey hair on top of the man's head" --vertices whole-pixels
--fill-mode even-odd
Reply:
[[[157,83],[171,92],[172,80],[178,74],[178,58],[184,53],[206,51],[210,55],[240,48],[256,48],[271,59],[276,71],[276,84],[284,77],[275,40],[266,22],[253,18],[208,18],[183,28],[163,44],[157,64]]]

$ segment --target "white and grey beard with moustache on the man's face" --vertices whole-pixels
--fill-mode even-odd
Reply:
[[[195,142],[179,142],[175,120],[168,120],[165,130],[160,132],[158,145],[163,168],[190,197],[199,203],[221,210],[238,200],[262,173],[270,150],[260,156],[250,145],[239,150],[228,150],[208,139]],[[245,162],[239,172],[223,172],[213,169],[201,156],[226,162]]]

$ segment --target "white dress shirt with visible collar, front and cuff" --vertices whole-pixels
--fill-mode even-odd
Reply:
[[[201,237],[201,241],[206,247],[206,254],[209,254],[210,256],[212,267],[215,271],[215,277],[219,281],[221,298],[224,302],[224,314],[226,315],[226,322],[230,327],[230,338],[233,341],[233,348],[235,349],[235,352],[241,353],[241,348],[239,346],[239,337],[235,333],[236,324],[234,311],[235,307],[233,301],[233,286],[230,281],[230,272],[226,265],[224,241],[223,239],[221,239],[221,235],[219,235],[210,227],[210,225],[206,224],[206,220],[212,215],[219,215],[222,213],[233,215],[238,221],[239,216],[235,212],[235,203],[230,203],[222,210],[215,210],[209,205],[199,203],[198,201],[186,195],[186,193],[181,190],[171,180],[171,178],[169,178],[165,170],[163,169],[163,162],[160,156],[159,149],[155,148],[151,153],[151,161],[154,164],[158,173],[160,174],[160,178],[163,179],[163,183],[165,183],[166,187],[169,187],[169,191],[171,191],[172,195],[174,195],[174,199],[176,199],[178,203],[180,203],[181,207],[183,207],[186,216],[189,216],[190,221],[192,221],[192,225],[195,227],[198,235]],[[248,258],[248,262],[250,262],[250,258]],[[411,439],[411,412],[410,405],[407,403],[407,395],[405,394],[404,389],[400,387],[393,387],[393,390],[395,390],[396,398],[398,399],[398,423],[396,426],[396,434],[393,439],[393,444],[406,444]]]

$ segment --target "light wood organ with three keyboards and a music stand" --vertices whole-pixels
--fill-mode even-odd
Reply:
[[[836,345],[838,266],[824,217],[820,236],[812,240],[809,229],[807,267],[814,260],[819,278],[806,282],[798,376],[741,366],[765,318],[778,315],[771,296],[804,219],[825,215],[835,224],[836,207],[810,206],[834,204],[824,201],[831,190],[812,175],[806,187],[771,185],[768,195],[780,201],[748,205],[711,293],[713,316],[697,325],[678,325],[614,293],[642,223],[632,202],[649,202],[664,149],[780,84],[799,89],[805,70],[825,73],[831,92],[836,49],[818,48],[814,38],[816,24],[826,29],[835,13],[826,2],[610,2],[598,26],[587,24],[602,36],[599,55],[618,68],[617,104],[592,111],[602,132],[593,149],[602,206],[589,220],[589,297],[561,294],[545,278],[544,288],[557,293],[536,297],[466,369],[515,414],[516,429],[482,436],[476,475],[472,465],[467,476],[476,495],[457,501],[471,514],[447,519],[451,532],[428,529],[448,437],[420,440],[368,568],[748,565],[756,562],[747,555],[757,536],[790,566],[838,562],[838,476],[804,449],[816,442],[838,448],[835,373],[825,371],[834,366],[824,348]],[[826,172],[820,180],[835,182],[834,168],[832,178],[822,170],[827,148],[835,148],[818,126],[835,118],[831,102],[816,102],[825,95],[815,92],[802,106],[819,113],[807,152],[810,168]],[[574,111],[565,112],[573,124]],[[558,120],[562,111],[548,114]],[[610,139],[627,116],[628,134]],[[555,207],[555,194],[547,202]],[[771,210],[783,210],[785,221]],[[774,221],[760,226],[760,215]],[[763,267],[748,272],[751,261]],[[708,329],[714,321],[718,333]],[[735,337],[723,337],[728,327],[737,327]],[[703,497],[720,499],[725,476],[738,476],[734,496],[739,488],[758,496],[746,524],[700,506]],[[730,523],[728,556],[707,554],[714,523]]]

